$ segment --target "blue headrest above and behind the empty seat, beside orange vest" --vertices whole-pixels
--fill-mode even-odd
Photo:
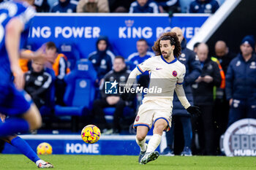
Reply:
[[[75,69],[76,62],[80,59],[80,53],[76,45],[73,44],[61,44],[59,47],[59,53],[63,53],[67,56],[67,63],[69,69]]]

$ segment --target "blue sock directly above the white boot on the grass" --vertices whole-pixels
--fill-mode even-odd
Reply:
[[[36,152],[34,152],[34,150],[32,150],[32,148],[29,146],[29,144],[19,136],[12,139],[11,144],[12,146],[20,150],[20,152],[22,152],[23,155],[26,155],[26,157],[28,157],[34,163],[36,163],[40,159],[37,156]]]

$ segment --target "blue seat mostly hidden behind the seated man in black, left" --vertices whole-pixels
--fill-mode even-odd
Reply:
[[[53,115],[53,110],[55,107],[55,80],[56,76],[53,69],[45,69],[45,72],[48,72],[52,77],[52,82],[50,83],[49,89],[45,94],[45,105],[39,109],[39,112],[43,116]]]

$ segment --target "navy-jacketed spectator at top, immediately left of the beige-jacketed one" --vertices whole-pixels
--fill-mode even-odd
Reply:
[[[76,12],[78,1],[74,0],[59,0],[50,9],[50,12]]]

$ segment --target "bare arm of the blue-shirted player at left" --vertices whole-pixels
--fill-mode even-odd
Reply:
[[[12,18],[6,26],[5,45],[10,60],[12,74],[15,75],[15,85],[23,88],[23,72],[19,65],[20,33],[24,24],[18,18]]]

